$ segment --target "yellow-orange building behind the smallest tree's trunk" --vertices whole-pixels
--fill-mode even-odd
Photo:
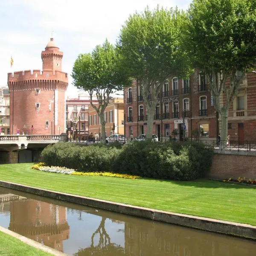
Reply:
[[[105,109],[104,117],[106,121],[105,135],[124,134],[124,99],[113,98]],[[102,137],[102,125],[96,110],[88,108],[89,133],[94,137]]]

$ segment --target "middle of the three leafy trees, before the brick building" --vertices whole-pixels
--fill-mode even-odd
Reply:
[[[130,15],[117,41],[125,73],[137,80],[147,108],[147,139],[151,139],[163,83],[171,76],[185,78],[190,73],[186,52],[180,48],[183,18],[177,9],[147,8]]]

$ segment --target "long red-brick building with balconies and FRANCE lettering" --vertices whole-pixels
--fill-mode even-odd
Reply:
[[[239,94],[230,106],[228,134],[231,140],[256,141],[256,74],[245,76]],[[151,94],[150,94],[151,97]],[[163,84],[158,94],[154,114],[153,133],[160,139],[185,137],[215,140],[221,130],[221,116],[215,111],[214,100],[204,73],[195,70],[189,79],[172,77]],[[147,109],[140,86],[124,90],[126,137],[137,137],[147,132]],[[225,93],[222,94],[225,99]],[[222,101],[222,102],[223,102]],[[183,130],[183,119],[185,130]]]

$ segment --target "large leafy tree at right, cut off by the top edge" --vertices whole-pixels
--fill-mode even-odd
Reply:
[[[193,67],[207,77],[227,140],[230,104],[256,64],[256,1],[194,0],[182,34]]]

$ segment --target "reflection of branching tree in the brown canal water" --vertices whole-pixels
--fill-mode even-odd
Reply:
[[[90,247],[80,249],[77,253],[74,254],[74,256],[89,256],[89,255],[123,256],[125,255],[125,249],[122,246],[116,245],[115,243],[111,243],[110,236],[108,235],[105,229],[105,221],[106,221],[106,217],[102,217],[99,227],[92,234]],[[94,245],[94,238],[97,234],[99,235],[99,243]]]

